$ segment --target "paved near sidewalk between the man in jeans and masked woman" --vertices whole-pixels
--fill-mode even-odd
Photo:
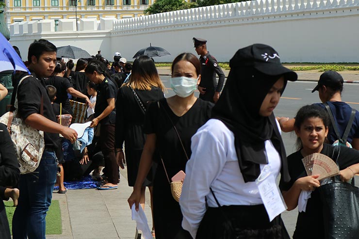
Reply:
[[[127,199],[132,193],[125,170],[120,171],[117,190],[67,190],[66,194],[53,193],[59,200],[63,234],[47,235],[47,239],[134,239],[136,223],[131,219]],[[147,190],[148,191],[148,190]],[[145,213],[152,228],[149,193]]]

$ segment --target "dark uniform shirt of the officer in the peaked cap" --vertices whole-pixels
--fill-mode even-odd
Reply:
[[[216,92],[221,92],[223,83],[225,80],[225,74],[221,67],[218,65],[217,60],[207,52],[203,57],[199,57],[201,62],[201,82],[199,86],[208,89],[215,89]],[[218,83],[216,80],[216,74],[218,75]]]

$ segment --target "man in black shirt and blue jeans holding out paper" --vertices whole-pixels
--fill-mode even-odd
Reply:
[[[45,150],[38,168],[30,174],[20,175],[20,197],[13,218],[14,239],[45,239],[46,212],[52,198],[56,180],[59,133],[74,143],[75,130],[57,123],[55,113],[45,88],[44,77],[49,77],[55,67],[56,47],[47,40],[34,41],[29,47],[28,61],[32,77],[16,85],[18,116],[25,123],[44,131]],[[19,74],[17,80],[26,76]],[[18,81],[17,81],[18,82]],[[15,99],[14,99],[15,100]],[[40,114],[41,105],[43,115]]]

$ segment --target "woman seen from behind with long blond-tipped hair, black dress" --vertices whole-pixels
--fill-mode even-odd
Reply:
[[[122,85],[116,98],[115,145],[117,161],[123,169],[125,155],[122,151],[125,142],[127,179],[133,187],[137,177],[142,149],[146,136],[143,130],[145,113],[150,102],[162,99],[164,86],[158,76],[156,66],[148,56],[139,56],[133,62],[131,79]],[[154,156],[158,159],[158,156]],[[152,199],[152,184],[157,164],[152,165],[141,184],[141,207],[145,207],[145,190],[148,187]],[[152,201],[152,200],[151,200]],[[152,228],[154,230],[154,228]]]

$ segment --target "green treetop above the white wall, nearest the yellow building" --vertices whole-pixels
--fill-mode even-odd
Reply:
[[[156,0],[149,6],[144,13],[146,15],[165,13],[177,10],[197,7],[196,2],[186,2],[185,0]]]

